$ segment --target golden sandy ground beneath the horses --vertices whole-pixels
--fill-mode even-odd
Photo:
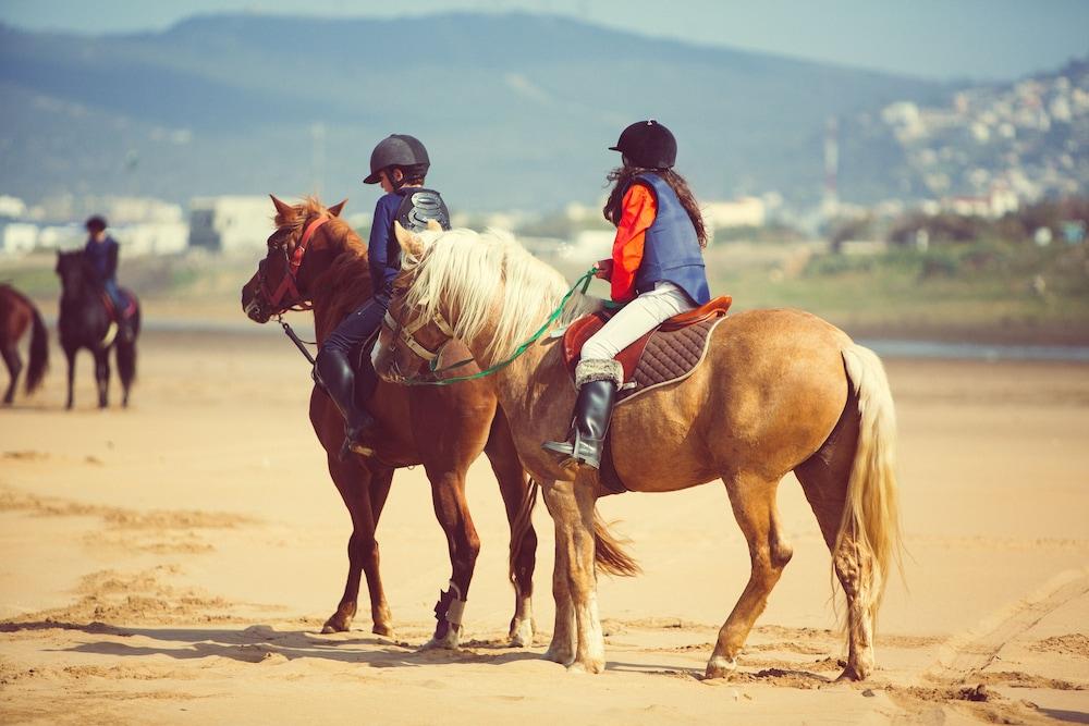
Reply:
[[[346,571],[347,514],[306,418],[308,371],[266,335],[151,333],[130,409],[76,410],[63,364],[0,410],[2,723],[1043,723],[1089,721],[1089,366],[888,360],[907,558],[878,670],[844,653],[829,555],[793,478],[795,556],[737,674],[701,676],[748,559],[721,485],[602,501],[644,567],[603,578],[608,668],[539,660],[552,529],[539,505],[539,628],[505,645],[507,528],[485,462],[465,647],[420,651],[445,587],[421,469],[381,525],[396,632],[320,635]],[[117,384],[114,383],[114,402]]]

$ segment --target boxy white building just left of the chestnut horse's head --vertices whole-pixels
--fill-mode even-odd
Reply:
[[[261,250],[273,217],[268,197],[196,197],[189,202],[189,246],[217,253]]]

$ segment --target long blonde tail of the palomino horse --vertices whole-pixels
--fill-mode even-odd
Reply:
[[[900,506],[894,470],[896,417],[881,360],[852,344],[842,352],[847,377],[858,396],[858,445],[847,482],[847,501],[834,553],[848,539],[860,561],[872,563],[864,575],[866,606],[877,615],[893,562],[901,564]],[[865,573],[866,568],[864,568]],[[868,577],[867,577],[868,575]],[[866,587],[868,586],[868,587]]]

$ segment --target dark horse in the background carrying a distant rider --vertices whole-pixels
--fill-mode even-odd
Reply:
[[[139,335],[139,302],[131,291],[124,291],[135,307],[129,322],[129,334],[118,335],[118,325],[107,307],[105,291],[99,284],[83,250],[57,253],[57,274],[61,279],[61,309],[57,319],[61,347],[69,364],[66,408],[72,408],[75,382],[75,354],[87,348],[95,356],[95,380],[98,383],[98,407],[109,405],[110,349],[117,350],[121,374],[121,405],[129,405],[129,389],[136,378],[136,337]]]

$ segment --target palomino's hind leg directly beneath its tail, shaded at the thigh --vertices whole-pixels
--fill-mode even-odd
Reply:
[[[794,470],[817,515],[847,600],[847,667],[840,678],[851,680],[861,680],[873,672],[873,617],[867,586],[872,558],[857,546],[851,532],[844,534],[840,550],[835,551],[858,441],[856,410],[852,397],[824,445]]]

